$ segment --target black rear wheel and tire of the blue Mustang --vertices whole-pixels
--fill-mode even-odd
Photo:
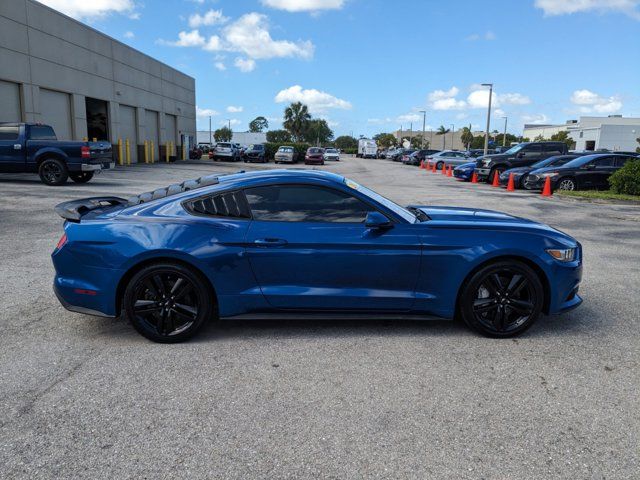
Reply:
[[[193,337],[212,316],[214,299],[201,275],[180,264],[156,263],[137,272],[124,292],[133,327],[158,343]]]

